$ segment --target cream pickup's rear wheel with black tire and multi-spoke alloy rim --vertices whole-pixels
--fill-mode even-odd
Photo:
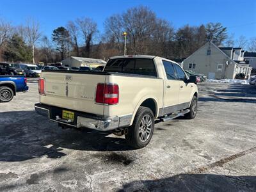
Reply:
[[[125,140],[134,148],[143,148],[150,142],[154,132],[154,115],[151,109],[140,107],[133,124],[125,134]]]

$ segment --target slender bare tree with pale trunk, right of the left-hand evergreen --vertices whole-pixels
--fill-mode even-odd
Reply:
[[[32,49],[33,63],[35,63],[35,44],[42,36],[39,22],[33,19],[26,20],[25,35],[28,45]]]

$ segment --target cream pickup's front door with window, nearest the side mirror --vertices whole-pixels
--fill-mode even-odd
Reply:
[[[182,68],[176,63],[173,63],[173,66],[179,80],[179,109],[184,109],[189,105],[192,86],[191,84],[186,83],[187,77],[184,70],[182,70]]]

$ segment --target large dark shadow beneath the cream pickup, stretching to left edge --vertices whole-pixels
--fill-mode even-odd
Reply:
[[[124,138],[91,130],[61,129],[35,111],[3,112],[0,116],[0,161],[66,156],[62,148],[89,151],[132,150]]]

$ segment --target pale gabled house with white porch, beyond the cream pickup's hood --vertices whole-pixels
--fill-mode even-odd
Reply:
[[[252,68],[243,54],[240,47],[218,47],[207,42],[182,61],[182,65],[185,70],[205,74],[208,79],[234,79],[239,73],[248,78]]]

